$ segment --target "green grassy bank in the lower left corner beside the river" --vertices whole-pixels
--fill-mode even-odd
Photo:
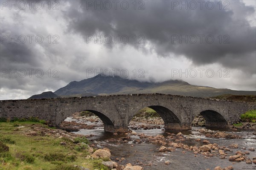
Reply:
[[[101,159],[85,159],[89,155],[86,138],[73,141],[40,132],[29,136],[32,126],[50,128],[38,122],[0,122],[0,170],[79,170],[73,165],[108,170]]]

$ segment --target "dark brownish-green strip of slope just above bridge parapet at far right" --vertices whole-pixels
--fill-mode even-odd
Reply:
[[[256,102],[256,95],[223,94],[223,95],[214,96],[210,98],[220,99],[220,100],[233,100],[233,101],[239,101],[239,102]]]

